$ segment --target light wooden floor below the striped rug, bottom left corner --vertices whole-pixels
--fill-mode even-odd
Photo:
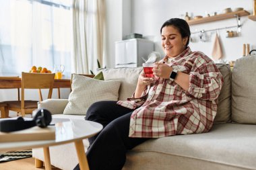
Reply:
[[[42,168],[34,167],[34,158],[19,159],[17,161],[9,161],[6,163],[0,163],[1,170],[42,170]],[[52,170],[61,170],[56,167],[52,167]]]

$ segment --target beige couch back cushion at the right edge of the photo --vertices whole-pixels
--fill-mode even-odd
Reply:
[[[255,56],[239,58],[232,72],[232,121],[256,124]]]

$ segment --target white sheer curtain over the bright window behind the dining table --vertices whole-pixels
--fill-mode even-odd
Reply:
[[[71,0],[0,0],[0,74],[33,65],[71,72]]]

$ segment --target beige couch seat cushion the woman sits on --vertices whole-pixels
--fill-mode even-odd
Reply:
[[[132,151],[135,153],[134,157],[141,153],[142,159],[155,153],[158,157],[172,155],[184,160],[189,158],[218,165],[255,169],[255,132],[255,125],[215,124],[208,133],[151,139]],[[133,155],[129,155],[127,160],[132,160],[132,157]]]

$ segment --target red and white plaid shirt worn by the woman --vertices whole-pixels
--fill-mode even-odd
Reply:
[[[187,48],[168,65],[189,74],[189,90],[158,78],[140,99],[118,101],[127,108],[137,108],[131,115],[130,137],[160,138],[208,132],[212,128],[223,83],[214,62],[202,52]]]

